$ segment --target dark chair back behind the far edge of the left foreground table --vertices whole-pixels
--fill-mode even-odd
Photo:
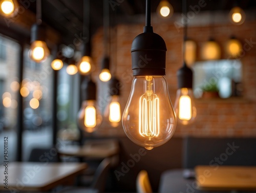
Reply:
[[[52,148],[33,148],[28,159],[29,162],[60,162],[57,149]]]

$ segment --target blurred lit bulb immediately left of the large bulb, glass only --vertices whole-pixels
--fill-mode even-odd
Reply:
[[[119,102],[119,96],[113,95],[110,97],[110,101],[106,105],[104,117],[113,127],[117,127],[121,121],[121,107]]]

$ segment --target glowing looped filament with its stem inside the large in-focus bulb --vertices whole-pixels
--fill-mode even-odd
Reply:
[[[159,98],[152,91],[152,76],[146,76],[147,90],[139,101],[139,133],[143,137],[159,135]]]

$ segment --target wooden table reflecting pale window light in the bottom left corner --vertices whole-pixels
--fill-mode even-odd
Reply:
[[[86,163],[9,162],[8,189],[5,188],[5,166],[0,166],[0,190],[48,191],[57,185],[74,182],[87,168]]]

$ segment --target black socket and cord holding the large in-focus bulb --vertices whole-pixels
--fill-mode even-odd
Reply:
[[[151,26],[151,0],[146,0],[146,25],[132,43],[133,76],[164,76],[166,45]]]

